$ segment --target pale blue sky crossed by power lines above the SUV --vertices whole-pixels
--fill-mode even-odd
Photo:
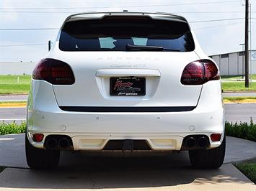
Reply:
[[[252,50],[256,49],[256,2],[252,6]],[[208,55],[241,51],[244,0],[0,0],[0,62],[37,62],[48,52],[70,14],[86,11],[176,13],[190,22]],[[212,21],[228,19],[224,21]],[[9,30],[23,29],[23,30]],[[24,30],[25,29],[25,30]]]

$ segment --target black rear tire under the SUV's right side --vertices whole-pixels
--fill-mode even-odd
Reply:
[[[189,151],[190,164],[200,169],[218,169],[224,162],[226,136],[221,145],[214,149],[198,149]]]

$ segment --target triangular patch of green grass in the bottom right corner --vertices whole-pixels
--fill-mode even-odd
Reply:
[[[236,167],[256,184],[256,162],[243,162],[236,164]]]

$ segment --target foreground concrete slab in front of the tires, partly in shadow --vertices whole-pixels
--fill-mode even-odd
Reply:
[[[133,163],[134,164],[134,163]],[[232,164],[220,169],[195,170],[190,167],[107,167],[32,171],[7,168],[0,174],[0,190],[230,190],[255,191],[250,182]]]

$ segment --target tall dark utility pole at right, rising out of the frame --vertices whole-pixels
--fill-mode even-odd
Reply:
[[[244,70],[245,88],[249,88],[249,0],[245,0],[245,51],[244,51]]]

